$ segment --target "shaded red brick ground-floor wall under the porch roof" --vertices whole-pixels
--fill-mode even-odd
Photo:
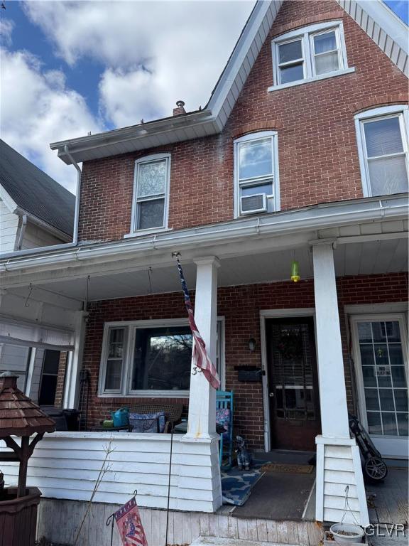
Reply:
[[[344,277],[337,280],[339,311],[344,348],[344,363],[349,405],[352,407],[351,373],[344,305],[407,301],[408,282],[405,274]],[[252,448],[263,448],[263,397],[261,383],[237,380],[236,365],[261,365],[260,311],[314,307],[312,279],[298,284],[276,282],[220,288],[218,314],[225,317],[226,387],[234,390],[234,427]],[[104,322],[142,319],[172,319],[185,316],[181,293],[139,296],[128,299],[93,302],[84,346],[84,366],[90,370],[89,424],[106,417],[121,405],[135,405],[146,399],[97,397],[99,361]],[[256,339],[256,350],[250,353],[249,338]],[[163,400],[169,402],[169,400]],[[175,399],[173,402],[187,400]]]

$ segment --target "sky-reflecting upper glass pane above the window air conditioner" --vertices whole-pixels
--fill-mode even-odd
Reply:
[[[271,137],[239,144],[239,179],[272,175],[272,150]]]

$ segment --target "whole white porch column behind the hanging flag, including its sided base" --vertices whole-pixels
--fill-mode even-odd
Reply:
[[[217,257],[195,259],[197,265],[195,321],[207,353],[216,362],[217,336]],[[192,372],[195,363],[192,362]],[[190,375],[189,419],[182,437],[179,459],[180,499],[199,499],[202,512],[214,512],[222,505],[219,467],[219,436],[216,434],[216,391],[203,373]],[[197,478],[202,491],[197,496]],[[183,504],[180,501],[180,508]],[[183,509],[183,508],[182,508]]]

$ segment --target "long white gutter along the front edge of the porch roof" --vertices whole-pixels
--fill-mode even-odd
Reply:
[[[66,264],[91,258],[116,257],[153,250],[178,250],[182,247],[195,248],[206,243],[220,245],[231,240],[243,240],[243,237],[260,235],[283,235],[307,230],[337,227],[351,223],[373,222],[379,220],[396,220],[408,217],[408,200],[404,197],[383,198],[378,200],[359,200],[358,202],[321,205],[302,210],[291,210],[285,213],[240,218],[227,223],[178,230],[175,232],[157,233],[151,237],[136,237],[119,242],[94,243],[77,247],[66,252],[50,252],[42,256],[26,259],[10,258],[0,262],[0,271],[9,272],[18,269],[40,267],[51,264]]]

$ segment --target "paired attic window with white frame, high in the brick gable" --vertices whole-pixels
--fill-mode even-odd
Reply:
[[[271,46],[274,86],[269,90],[354,71],[347,64],[342,21],[299,28]]]

